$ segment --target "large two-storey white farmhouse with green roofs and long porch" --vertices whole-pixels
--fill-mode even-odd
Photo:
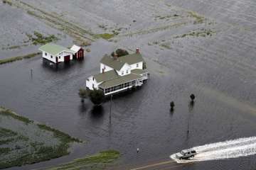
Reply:
[[[87,89],[100,89],[105,95],[142,86],[149,78],[146,63],[137,48],[132,55],[114,57],[105,55],[100,61],[100,74],[86,79]]]

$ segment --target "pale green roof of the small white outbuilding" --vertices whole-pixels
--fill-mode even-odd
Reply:
[[[74,52],[73,50],[70,50],[66,47],[62,47],[60,45],[55,45],[52,43],[48,43],[46,45],[43,45],[42,47],[39,48],[39,50],[48,52],[51,55],[58,55],[60,52],[67,51],[67,52]]]

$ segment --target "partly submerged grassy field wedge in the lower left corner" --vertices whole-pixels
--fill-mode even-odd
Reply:
[[[73,142],[80,141],[0,108],[0,169],[61,157]]]

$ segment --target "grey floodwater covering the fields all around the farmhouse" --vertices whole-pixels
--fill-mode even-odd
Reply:
[[[72,44],[75,31],[61,30],[61,23],[51,27],[54,24],[46,21],[49,13],[72,21],[81,28],[82,38],[92,41],[91,52],[86,53],[83,62],[71,63],[63,69],[43,66],[40,55],[0,66],[0,106],[89,141],[68,157],[23,169],[60,164],[105,149],[119,150],[119,169],[129,169],[168,160],[169,155],[181,149],[255,136],[254,1],[27,0],[14,4],[21,5],[0,3],[0,8],[6,13],[23,13],[40,23],[43,33],[67,34],[68,40],[59,36],[62,45]],[[28,11],[44,18],[29,15]],[[1,22],[9,21],[3,18]],[[33,33],[32,28],[24,27],[23,31]],[[96,35],[104,33],[113,34],[113,38],[97,38]],[[11,42],[6,38],[1,39],[1,47],[8,43]],[[1,47],[0,58],[27,53],[26,47]],[[110,102],[105,102],[102,108],[93,108],[90,101],[82,105],[78,89],[85,87],[86,77],[100,72],[101,57],[117,47],[130,52],[140,47],[151,77],[142,89],[114,97],[110,124]],[[38,46],[28,48],[35,52]],[[189,105],[191,93],[196,94],[193,107]],[[176,104],[173,113],[170,101]],[[255,164],[252,155],[196,162],[177,169],[255,169]]]

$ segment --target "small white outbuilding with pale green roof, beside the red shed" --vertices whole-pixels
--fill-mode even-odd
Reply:
[[[73,60],[73,55],[75,54],[73,50],[52,43],[43,45],[39,50],[42,52],[43,59],[55,64],[59,62],[70,62],[70,60]]]

